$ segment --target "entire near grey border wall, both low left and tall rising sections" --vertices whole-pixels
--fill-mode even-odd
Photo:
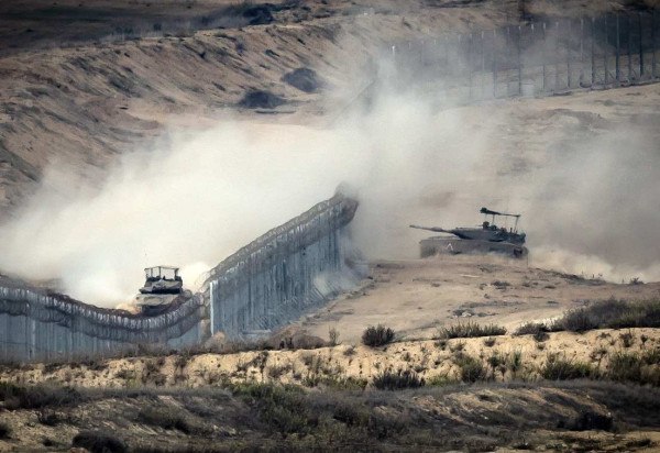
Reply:
[[[220,263],[201,292],[154,317],[0,279],[0,361],[110,356],[140,344],[182,347],[218,331],[237,338],[282,325],[356,283],[344,264],[345,225],[356,208],[342,195],[315,206]]]

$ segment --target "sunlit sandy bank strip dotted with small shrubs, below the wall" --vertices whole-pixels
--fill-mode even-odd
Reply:
[[[486,341],[494,339],[494,341]],[[657,329],[594,330],[583,334],[551,333],[543,342],[530,335],[402,341],[383,347],[340,344],[317,350],[253,351],[234,354],[173,355],[118,358],[68,365],[26,365],[3,368],[0,379],[20,384],[57,383],[78,387],[186,386],[205,387],[227,382],[282,382],[318,385],[323,379],[364,379],[369,384],[384,371],[413,371],[432,382],[459,380],[455,358],[476,357],[493,380],[536,380],[553,356],[586,363],[604,371],[614,354],[640,353],[660,347]],[[509,365],[517,355],[519,367]],[[493,362],[494,358],[497,361]]]

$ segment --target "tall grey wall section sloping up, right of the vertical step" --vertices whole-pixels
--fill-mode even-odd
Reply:
[[[344,255],[356,207],[338,195],[222,262],[205,284],[211,333],[273,330],[354,286]]]

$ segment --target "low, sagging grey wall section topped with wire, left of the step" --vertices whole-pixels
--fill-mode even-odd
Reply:
[[[202,340],[201,297],[178,301],[167,313],[141,317],[48,296],[36,289],[0,288],[0,360],[59,361],[109,356],[139,344],[172,347]]]

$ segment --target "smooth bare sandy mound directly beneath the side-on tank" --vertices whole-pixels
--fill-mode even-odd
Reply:
[[[356,342],[367,325],[393,328],[400,338],[428,338],[458,321],[504,325],[551,319],[590,300],[660,297],[660,283],[620,285],[530,267],[495,256],[441,255],[376,262],[362,288],[305,317],[301,327]]]

